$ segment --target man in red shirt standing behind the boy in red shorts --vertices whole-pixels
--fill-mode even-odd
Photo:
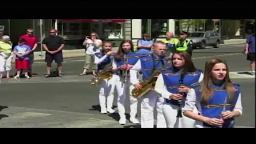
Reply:
[[[23,38],[26,40],[25,45],[30,46],[31,52],[30,58],[30,69],[28,70],[29,76],[32,77],[32,65],[34,63],[34,50],[38,47],[38,38],[34,36],[33,29],[27,29],[26,34],[22,35],[19,39]]]

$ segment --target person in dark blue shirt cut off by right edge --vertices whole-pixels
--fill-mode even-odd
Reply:
[[[255,60],[256,60],[255,34],[252,34],[251,30],[248,31],[248,34],[251,34],[251,35],[246,39],[245,54],[247,55],[247,61],[250,61],[251,74],[255,75]]]

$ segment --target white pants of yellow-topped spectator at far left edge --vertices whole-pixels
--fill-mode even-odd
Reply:
[[[11,60],[10,55],[0,53],[0,74],[3,74],[6,70],[11,68]]]

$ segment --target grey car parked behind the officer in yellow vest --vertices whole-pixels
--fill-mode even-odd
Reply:
[[[218,48],[221,43],[221,37],[215,31],[198,31],[192,32],[188,35],[193,41],[193,48],[201,48],[204,49],[206,46],[214,46],[214,48]]]

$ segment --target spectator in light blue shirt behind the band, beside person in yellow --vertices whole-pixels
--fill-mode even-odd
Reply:
[[[144,34],[143,38],[138,40],[138,53],[150,54],[154,41],[150,38],[149,34]]]

